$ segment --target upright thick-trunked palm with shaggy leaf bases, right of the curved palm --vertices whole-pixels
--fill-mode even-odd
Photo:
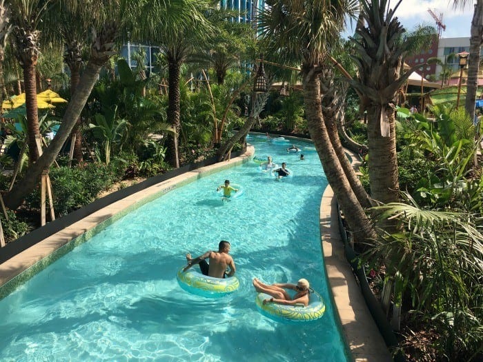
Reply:
[[[415,68],[401,76],[404,57],[415,43],[432,36],[434,31],[423,27],[403,37],[405,30],[394,16],[401,1],[391,9],[387,0],[362,0],[367,25],[359,23],[353,39],[353,59],[359,76],[349,82],[359,93],[362,108],[367,110],[371,197],[381,203],[395,202],[399,195],[393,102]]]

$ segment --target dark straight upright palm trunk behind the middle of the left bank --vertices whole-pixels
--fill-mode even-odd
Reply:
[[[169,72],[169,91],[168,91],[168,123],[172,125],[175,134],[168,136],[167,157],[172,167],[179,168],[179,150],[178,135],[181,129],[180,109],[179,109],[179,77],[181,74],[181,62],[174,57],[168,56],[168,72]]]

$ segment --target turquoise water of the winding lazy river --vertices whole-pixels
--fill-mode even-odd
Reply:
[[[0,361],[347,361],[327,305],[322,319],[277,323],[255,307],[253,277],[304,277],[328,303],[319,242],[326,179],[315,152],[251,136],[257,157],[287,162],[275,181],[253,162],[147,203],[0,301]],[[310,145],[295,142],[300,148]],[[223,202],[225,179],[244,194]],[[221,299],[182,290],[193,255],[231,243],[240,288]]]

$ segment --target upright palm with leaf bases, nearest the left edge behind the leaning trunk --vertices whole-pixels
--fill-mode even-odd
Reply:
[[[36,70],[40,54],[40,32],[38,30],[41,17],[46,12],[49,0],[12,0],[12,43],[15,57],[23,68],[23,85],[26,94],[28,120],[28,152],[29,163],[39,159],[37,140],[40,139],[39,110],[37,108]]]

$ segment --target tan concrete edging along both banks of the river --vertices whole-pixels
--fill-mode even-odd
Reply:
[[[46,268],[75,246],[90,239],[92,235],[97,234],[106,226],[144,205],[144,203],[208,174],[248,162],[253,157],[254,152],[253,147],[249,147],[242,157],[186,172],[132,194],[90,214],[28,250],[17,254],[17,256],[0,265],[0,298],[8,295],[18,285],[30,279],[34,274]],[[344,258],[342,249],[344,244],[340,240],[337,209],[330,187],[326,188],[322,197],[320,230],[326,272],[333,292],[336,318],[338,317],[342,324],[342,332],[351,350],[353,361],[392,361],[382,336],[364,303],[351,267]]]

